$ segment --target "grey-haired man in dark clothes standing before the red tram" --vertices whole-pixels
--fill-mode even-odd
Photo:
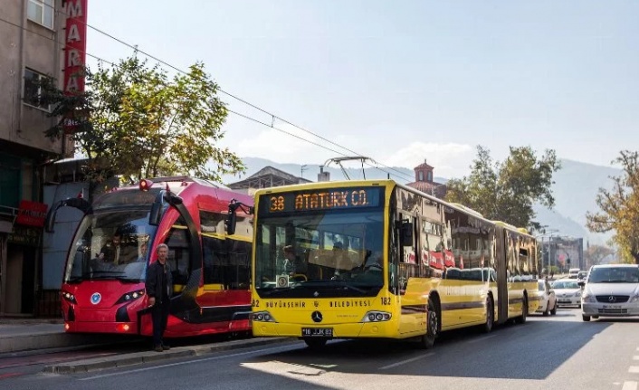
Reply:
[[[169,349],[164,344],[162,338],[167,328],[168,309],[171,305],[171,294],[173,292],[173,278],[171,267],[167,263],[168,246],[160,243],[156,248],[157,262],[148,266],[147,271],[147,295],[148,306],[151,307],[153,318],[153,349],[162,352]]]

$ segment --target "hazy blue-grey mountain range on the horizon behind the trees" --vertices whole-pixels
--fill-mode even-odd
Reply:
[[[268,159],[258,157],[243,157],[243,162],[247,166],[246,172],[242,176],[223,176],[223,183],[234,183],[248,176],[252,176],[264,166],[272,166],[293,176],[303,177],[307,180],[317,181],[320,173],[318,164],[279,164]],[[609,189],[613,185],[611,176],[621,176],[622,169],[610,166],[596,166],[573,160],[561,159],[561,168],[554,174],[552,185],[555,196],[555,207],[552,210],[536,205],[535,220],[542,225],[547,225],[548,233],[569,236],[573,238],[584,238],[586,243],[599,245],[606,244],[612,233],[590,233],[586,228],[586,213],[596,213],[596,195],[599,188]],[[331,180],[350,179],[383,179],[390,176],[398,183],[409,183],[415,181],[415,172],[412,168],[405,167],[384,167],[380,170],[374,167],[345,168],[339,166],[322,166],[324,172],[330,173]],[[436,174],[437,167],[434,167]],[[348,177],[347,177],[348,175]],[[448,179],[444,177],[434,177],[434,182],[446,183]],[[555,232],[556,231],[556,232]]]

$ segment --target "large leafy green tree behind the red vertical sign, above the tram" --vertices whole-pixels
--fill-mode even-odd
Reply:
[[[86,84],[85,92],[72,96],[45,86],[51,116],[60,119],[45,135],[62,137],[72,118],[72,138],[88,158],[91,183],[114,175],[133,183],[178,174],[220,181],[245,169],[228,148],[215,147],[228,113],[204,64],[169,78],[134,55],[110,69],[100,62],[97,71],[86,71]]]

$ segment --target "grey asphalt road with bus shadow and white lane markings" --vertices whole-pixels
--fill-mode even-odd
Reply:
[[[434,349],[408,342],[300,341],[94,371],[0,376],[10,389],[618,389],[639,382],[639,319],[582,322],[578,309],[524,325],[449,332]],[[33,365],[37,368],[38,365]]]

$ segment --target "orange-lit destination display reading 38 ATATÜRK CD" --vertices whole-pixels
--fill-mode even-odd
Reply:
[[[262,195],[260,214],[377,207],[382,187],[329,188]]]

